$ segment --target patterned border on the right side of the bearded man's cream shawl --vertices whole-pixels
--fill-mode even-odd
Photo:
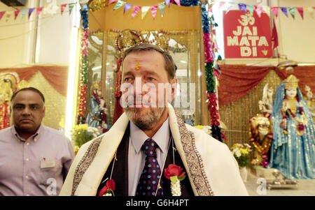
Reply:
[[[187,130],[179,112],[175,112],[175,114],[179,124],[179,133],[181,135],[183,151],[186,154],[186,161],[190,175],[195,183],[197,193],[200,196],[213,196],[214,192],[211,190],[206,172],[204,171],[202,158],[195,145],[195,135],[193,132]]]

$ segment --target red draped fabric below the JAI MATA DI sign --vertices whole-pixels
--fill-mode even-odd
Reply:
[[[255,88],[269,73],[275,70],[277,75],[285,80],[288,77],[286,70],[279,70],[275,66],[244,66],[221,65],[220,85],[218,87],[219,105],[228,105],[246,95]],[[305,85],[315,90],[315,66],[297,66],[292,73],[299,79],[299,87],[305,95]]]

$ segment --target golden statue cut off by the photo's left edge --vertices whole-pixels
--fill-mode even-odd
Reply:
[[[10,127],[9,101],[13,94],[9,80],[0,81],[0,130]]]

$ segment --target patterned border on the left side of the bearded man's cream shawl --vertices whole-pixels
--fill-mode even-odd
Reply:
[[[92,144],[90,144],[90,146],[87,148],[87,151],[85,151],[83,158],[81,158],[80,162],[76,166],[76,171],[74,172],[73,177],[71,196],[73,196],[76,192],[76,189],[78,188],[78,184],[80,183],[83,174],[87,171],[87,168],[90,167],[92,161],[94,160],[102,138],[103,135],[100,135],[95,140],[93,140]]]

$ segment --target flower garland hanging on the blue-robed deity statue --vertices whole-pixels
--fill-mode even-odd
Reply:
[[[304,115],[304,110],[302,107],[302,103],[300,102],[300,97],[298,95],[295,96],[297,103],[299,105],[298,112],[300,113],[300,118],[297,118],[296,114],[294,114],[291,110],[291,107],[286,111],[288,112],[288,115],[290,116],[291,119],[295,122],[297,125],[297,134],[298,135],[303,135],[304,130],[305,130],[305,124],[306,124],[306,117]],[[284,100],[288,100],[286,96],[284,96]],[[283,127],[283,133],[285,135],[288,135],[288,130],[287,130],[287,124],[286,121],[288,119],[288,115],[286,115],[286,112],[281,112],[282,114],[282,121],[280,123],[280,126]]]

